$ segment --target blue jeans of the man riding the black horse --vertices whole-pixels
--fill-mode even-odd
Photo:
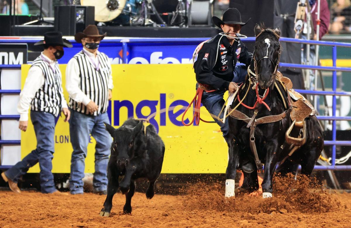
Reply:
[[[247,74],[247,67],[245,64],[237,64],[234,70],[234,77],[232,82],[240,83],[244,82]],[[225,103],[223,99],[225,91],[218,90],[214,92],[207,93],[204,91],[201,103],[205,106],[208,112],[210,112],[214,116],[218,116],[218,113],[222,110],[222,107]],[[219,116],[219,118],[223,119],[223,112]],[[220,126],[220,130],[223,133],[223,137],[226,137],[229,134],[229,125],[228,121],[225,123],[220,122],[218,119],[213,118],[214,121]]]

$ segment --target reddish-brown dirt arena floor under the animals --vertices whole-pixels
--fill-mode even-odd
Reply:
[[[100,217],[105,196],[0,191],[0,227],[350,227],[351,194],[312,186],[305,177],[276,178],[273,198],[238,193],[225,198],[224,184],[195,184],[183,195],[135,193],[131,215],[125,196],[113,198],[110,217]]]

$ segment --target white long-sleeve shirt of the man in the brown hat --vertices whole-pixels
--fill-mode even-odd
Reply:
[[[90,59],[94,61],[95,66],[97,66],[99,63],[99,51],[97,51],[96,55],[94,56],[94,54],[89,52],[85,47],[83,49],[85,51],[85,54],[87,54],[90,57]],[[111,69],[110,63],[108,63],[108,67]],[[112,70],[110,72],[112,72]],[[91,101],[91,99],[79,87],[79,74],[80,69],[77,59],[70,59],[66,68],[66,90],[73,100],[75,100],[78,103],[83,103],[86,106]],[[108,77],[108,89],[113,89],[112,74],[110,74],[110,76]]]

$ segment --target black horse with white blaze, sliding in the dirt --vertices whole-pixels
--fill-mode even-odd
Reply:
[[[284,91],[284,88],[279,83],[275,83],[280,57],[279,27],[272,30],[268,28],[263,29],[256,25],[254,31],[256,34],[255,51],[249,66],[246,82],[240,87],[238,97],[240,99],[245,97],[242,104],[248,107],[253,108],[255,103],[257,105],[256,108],[249,109],[239,104],[240,99],[235,99],[231,104],[231,109],[238,106],[236,110],[249,118],[246,118],[246,121],[240,120],[245,118],[228,119],[233,141],[231,141],[230,145],[226,178],[235,179],[239,162],[247,159],[247,156],[249,156],[252,163],[254,163],[253,160],[255,162],[260,161],[264,163],[262,190],[263,197],[266,198],[272,197],[272,178],[277,163],[283,161],[290,151],[289,146],[283,147],[283,145],[285,144],[285,132],[291,124],[289,111],[292,107],[286,108],[286,105],[284,105],[284,103],[288,102],[286,94],[282,98],[279,93],[279,90]],[[275,84],[277,85],[275,86]],[[255,90],[256,86],[257,92]],[[277,86],[280,88],[279,90],[276,88]],[[256,120],[261,117],[280,115],[280,120],[257,126],[252,122],[248,124],[250,119],[253,122],[256,121],[255,118],[252,118],[254,115],[256,115]],[[250,135],[249,125],[251,127],[255,125],[254,135]],[[286,159],[282,164],[281,172],[292,171],[291,167],[293,164],[298,163],[302,166],[302,174],[311,174],[324,146],[322,129],[316,116],[306,118],[305,134],[306,143],[297,149],[289,159]],[[257,159],[253,157],[250,141],[253,141],[254,145],[256,145],[251,145],[251,148],[255,147],[254,149],[257,149]],[[241,189],[249,192],[258,189],[257,167],[259,167],[260,162],[258,162],[257,166],[253,165],[252,172],[244,172],[244,183]]]

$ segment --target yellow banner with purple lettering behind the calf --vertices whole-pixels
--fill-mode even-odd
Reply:
[[[64,95],[66,65],[60,65]],[[22,88],[29,65],[22,65]],[[118,64],[112,65],[113,97],[110,103],[110,120],[116,128],[128,117],[145,118],[156,112],[151,123],[159,130],[165,143],[163,173],[224,173],[228,161],[227,145],[220,128],[215,123],[201,122],[199,126],[183,126],[180,110],[187,106],[195,95],[195,75],[190,64]],[[161,112],[160,112],[161,110]],[[192,119],[193,108],[186,117]],[[201,118],[212,120],[205,109],[201,108]],[[69,125],[60,117],[55,128],[55,153],[53,169],[55,173],[69,173],[72,145]],[[21,135],[22,158],[36,147],[33,125]],[[85,172],[94,172],[95,141],[91,137]],[[39,165],[29,172],[39,172]]]

